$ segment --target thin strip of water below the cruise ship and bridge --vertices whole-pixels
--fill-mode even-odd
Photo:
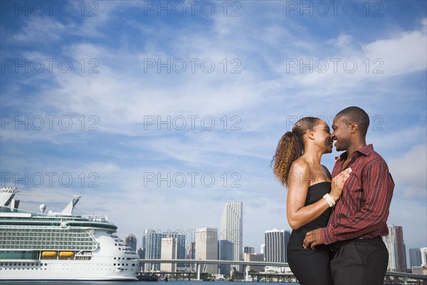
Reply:
[[[144,282],[144,281],[1,281],[1,285],[130,285],[134,284],[134,282],[137,282],[138,285],[149,285],[149,284],[158,284],[158,285],[208,285],[212,282],[209,281],[175,281],[175,280],[169,280],[168,282],[165,281],[158,281],[157,283],[154,282]],[[237,285],[237,284],[265,284],[265,282],[230,282],[230,281],[215,281],[215,285]],[[212,285],[214,285],[212,284]],[[298,283],[277,283],[273,282],[268,284],[286,284],[286,285],[298,285]]]

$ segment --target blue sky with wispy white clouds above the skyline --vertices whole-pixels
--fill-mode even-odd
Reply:
[[[426,14],[426,1],[1,1],[2,186],[32,210],[82,195],[76,212],[139,241],[191,239],[242,201],[259,251],[265,230],[290,228],[270,168],[281,135],[358,105],[396,182],[389,224],[426,247]]]

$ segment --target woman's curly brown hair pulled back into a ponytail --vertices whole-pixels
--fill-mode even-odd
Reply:
[[[317,120],[319,118],[301,118],[293,125],[292,132],[286,132],[280,138],[273,160],[271,160],[271,165],[274,162],[273,174],[283,186],[288,187],[289,185],[289,171],[292,162],[304,153],[303,136],[305,132],[313,130]]]

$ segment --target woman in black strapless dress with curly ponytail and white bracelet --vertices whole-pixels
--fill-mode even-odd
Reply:
[[[351,168],[331,182],[331,174],[320,164],[324,153],[332,152],[332,136],[325,121],[305,117],[292,132],[280,139],[273,173],[288,187],[286,214],[292,234],[288,243],[288,264],[302,285],[334,284],[330,271],[330,248],[322,244],[315,250],[303,248],[305,233],[326,227],[330,208],[341,196]]]

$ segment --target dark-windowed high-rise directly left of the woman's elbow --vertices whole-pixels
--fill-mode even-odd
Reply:
[[[290,231],[272,229],[265,231],[264,259],[268,262],[288,262],[288,242]]]

